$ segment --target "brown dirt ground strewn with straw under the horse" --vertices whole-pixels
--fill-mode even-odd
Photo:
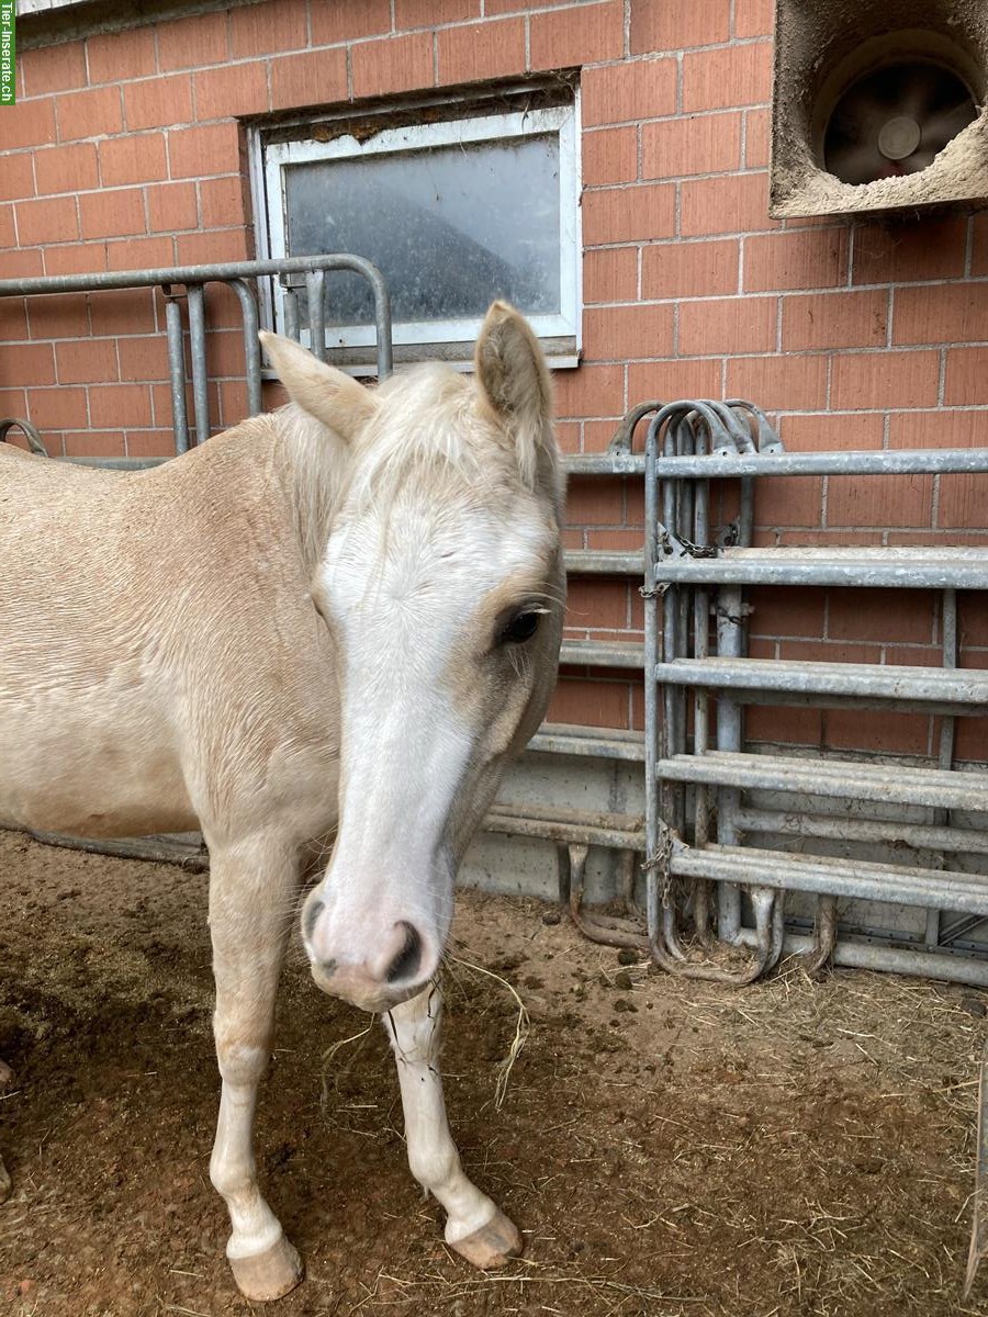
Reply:
[[[526,1258],[472,1272],[403,1155],[382,1030],[300,952],[258,1119],[269,1198],[308,1277],[237,1296],[208,1181],[219,1081],[206,880],[0,832],[0,1100],[13,1317],[825,1317],[960,1300],[981,996],[789,965],[740,992],[623,967],[539,902],[460,897],[444,1052],[468,1172]],[[988,1264],[985,1264],[988,1270]]]

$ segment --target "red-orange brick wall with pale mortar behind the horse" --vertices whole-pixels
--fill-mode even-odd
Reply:
[[[746,395],[788,448],[988,441],[988,215],[885,227],[769,220],[771,0],[277,0],[22,51],[0,142],[3,274],[253,254],[242,116],[580,66],[584,362],[560,371],[560,439],[606,446],[644,398]],[[238,316],[211,302],[212,412],[245,407]],[[0,411],[53,450],[165,453],[163,307],[148,294],[0,303]],[[984,478],[767,483],[761,541],[984,543]],[[640,490],[573,483],[568,541],[638,547]],[[576,582],[574,635],[635,635],[636,591]],[[754,652],[937,662],[927,597],[863,615],[756,601]],[[964,661],[988,627],[962,606]],[[640,693],[573,673],[555,715],[627,726]],[[767,724],[765,719],[771,719]],[[921,753],[926,719],[754,714],[806,744]],[[975,727],[959,749],[988,757]]]

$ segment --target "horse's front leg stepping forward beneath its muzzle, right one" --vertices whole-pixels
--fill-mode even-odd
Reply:
[[[398,1063],[408,1166],[445,1208],[451,1249],[474,1267],[501,1267],[522,1251],[522,1235],[460,1164],[439,1072],[441,1015],[443,994],[432,985],[385,1017]]]

